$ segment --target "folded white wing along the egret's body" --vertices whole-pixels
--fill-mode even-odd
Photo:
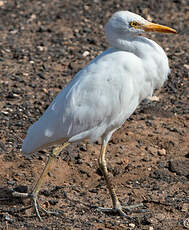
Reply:
[[[119,128],[139,103],[137,84],[141,87],[142,75],[142,64],[133,54],[109,49],[57,95],[28,130],[28,142],[42,146],[61,138],[96,140]]]

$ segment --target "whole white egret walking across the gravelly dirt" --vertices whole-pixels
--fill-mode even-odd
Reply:
[[[113,208],[104,211],[126,216],[108,175],[105,152],[112,134],[135,111],[139,103],[160,88],[170,72],[168,58],[143,32],[176,33],[129,11],[112,15],[105,25],[111,48],[93,59],[57,95],[42,117],[27,132],[22,151],[26,154],[54,144],[54,149],[31,194],[41,219],[37,195],[53,157],[73,142],[101,138],[99,166],[110,192]],[[19,194],[17,193],[19,196]],[[41,208],[41,207],[40,207]],[[103,209],[102,209],[103,210]]]

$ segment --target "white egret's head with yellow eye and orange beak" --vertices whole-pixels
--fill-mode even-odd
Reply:
[[[124,34],[142,32],[176,33],[176,30],[147,21],[143,17],[129,11],[118,11],[112,15],[105,26],[105,31]]]

